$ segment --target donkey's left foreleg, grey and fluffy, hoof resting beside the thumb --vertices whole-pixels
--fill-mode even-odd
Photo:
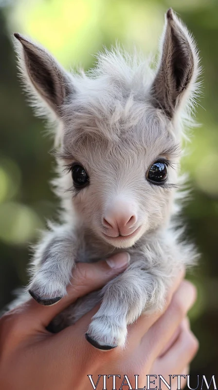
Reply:
[[[74,246],[73,230],[65,226],[48,232],[37,245],[28,291],[41,305],[54,305],[66,295],[74,266]]]

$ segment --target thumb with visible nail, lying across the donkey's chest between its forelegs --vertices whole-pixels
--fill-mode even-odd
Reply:
[[[34,299],[22,304],[19,313],[27,314],[29,326],[38,329],[41,326],[46,327],[59,312],[66,309],[77,298],[88,294],[91,291],[103,287],[109,280],[123,272],[129,263],[129,254],[115,254],[109,259],[96,263],[77,263],[73,270],[71,284],[67,288],[67,295],[57,302],[54,306],[41,306]]]

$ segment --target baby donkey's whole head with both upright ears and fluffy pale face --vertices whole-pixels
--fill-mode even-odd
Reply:
[[[116,48],[99,54],[87,75],[69,74],[43,48],[15,37],[29,90],[60,123],[66,169],[58,184],[69,190],[67,209],[73,205],[87,228],[119,248],[162,227],[177,184],[182,112],[199,70],[186,28],[168,10],[156,72]]]

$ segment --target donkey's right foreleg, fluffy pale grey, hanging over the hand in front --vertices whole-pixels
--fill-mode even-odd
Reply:
[[[151,307],[157,310],[164,305],[166,286],[162,276],[147,271],[141,264],[133,267],[130,265],[103,289],[101,307],[92,317],[86,334],[87,340],[98,349],[124,347],[127,325]]]

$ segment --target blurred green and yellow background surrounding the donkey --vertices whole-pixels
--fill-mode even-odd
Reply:
[[[191,373],[218,372],[218,1],[217,0],[0,0],[0,307],[27,283],[29,244],[58,201],[49,187],[52,139],[33,116],[17,78],[11,34],[18,31],[45,45],[67,68],[93,65],[102,45],[119,39],[145,53],[157,52],[164,12],[172,7],[194,34],[204,89],[183,170],[192,197],[183,214],[187,237],[202,254],[188,277],[199,297],[190,317],[200,340]],[[191,386],[196,387],[195,383]]]

